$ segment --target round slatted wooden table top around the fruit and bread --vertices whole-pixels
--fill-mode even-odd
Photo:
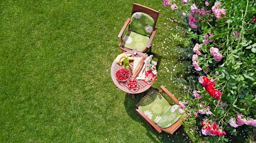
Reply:
[[[132,54],[132,51],[126,51],[124,52],[126,54]],[[137,51],[136,55],[132,55],[133,57],[146,57],[145,53],[139,52]],[[146,91],[148,88],[150,88],[150,86],[153,84],[146,84],[146,82],[144,82],[143,80],[138,80],[138,87],[135,90],[129,89],[128,85],[127,85],[127,81],[121,82],[118,81],[115,77],[115,69],[117,69],[118,67],[120,67],[119,64],[117,64],[116,60],[114,60],[114,62],[112,63],[111,66],[111,77],[113,82],[115,83],[115,85],[117,86],[117,88],[123,90],[124,92],[130,93],[132,95],[132,99],[135,99],[135,94],[141,93]],[[129,67],[130,67],[130,77],[132,77],[133,73],[133,61],[130,60],[129,63]]]

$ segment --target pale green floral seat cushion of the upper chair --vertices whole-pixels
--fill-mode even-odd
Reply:
[[[124,36],[124,41],[122,43],[122,46],[129,49],[137,49],[138,51],[144,51],[148,44],[148,41],[149,41],[149,38],[147,36],[140,35],[133,31],[129,31]]]

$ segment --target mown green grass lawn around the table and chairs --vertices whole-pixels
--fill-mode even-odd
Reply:
[[[182,70],[180,60],[165,51],[175,43],[164,43],[182,25],[167,20],[178,17],[162,0],[1,1],[0,142],[202,140],[188,125],[173,135],[150,130],[135,113],[147,91],[131,99],[112,82],[111,64],[121,52],[117,35],[133,2],[160,10],[152,48],[158,77],[152,88],[164,85],[182,98],[171,79]]]

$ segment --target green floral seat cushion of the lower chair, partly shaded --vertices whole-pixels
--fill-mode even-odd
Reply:
[[[138,108],[154,123],[157,123],[168,107],[170,107],[168,101],[159,92],[153,90],[139,104]]]

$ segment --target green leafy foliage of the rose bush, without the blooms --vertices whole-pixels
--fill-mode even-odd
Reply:
[[[204,1],[192,0],[190,2],[195,2],[198,9],[205,7]],[[210,0],[209,7],[212,7],[214,2]],[[214,118],[214,122],[218,124],[221,130],[235,134],[237,130],[243,130],[243,128],[234,130],[235,128],[228,123],[229,119],[236,120],[240,113],[245,120],[256,119],[256,23],[253,21],[256,18],[256,3],[249,0],[223,0],[220,1],[220,4],[221,8],[226,10],[225,15],[221,15],[222,18],[217,19],[213,12],[205,15],[197,13],[195,19],[200,18],[200,22],[196,23],[197,29],[187,28],[187,37],[182,40],[180,37],[175,37],[175,40],[182,41],[180,43],[194,45],[195,43],[202,43],[206,34],[213,35],[209,37],[211,42],[203,44],[202,49],[200,49],[202,55],[199,55],[197,59],[202,70],[207,71],[207,73],[190,70],[192,75],[186,75],[184,78],[177,77],[175,81],[182,85],[184,91],[189,91],[184,95],[189,100],[187,106],[189,112],[198,112],[201,109],[198,108],[200,104],[209,106],[213,114],[204,116],[204,118],[207,121]],[[190,6],[190,4],[188,5]],[[213,20],[210,21],[210,18]],[[190,47],[187,44],[183,45]],[[219,49],[223,55],[221,61],[217,62],[213,58],[210,52],[211,47]],[[180,48],[177,48],[177,51],[179,50]],[[183,59],[191,59],[192,57],[190,52],[187,55],[183,53],[181,55]],[[216,72],[219,74],[216,75]],[[198,84],[197,79],[201,75],[216,82],[214,87],[223,93],[220,101],[209,96],[205,88]],[[201,97],[195,99],[193,90],[200,91]],[[193,123],[194,117],[195,115],[192,114],[188,122]],[[255,125],[247,125],[245,130],[248,134],[247,141],[256,138],[255,130]],[[206,141],[227,142],[228,139],[225,136],[213,136],[213,138],[207,138]]]

